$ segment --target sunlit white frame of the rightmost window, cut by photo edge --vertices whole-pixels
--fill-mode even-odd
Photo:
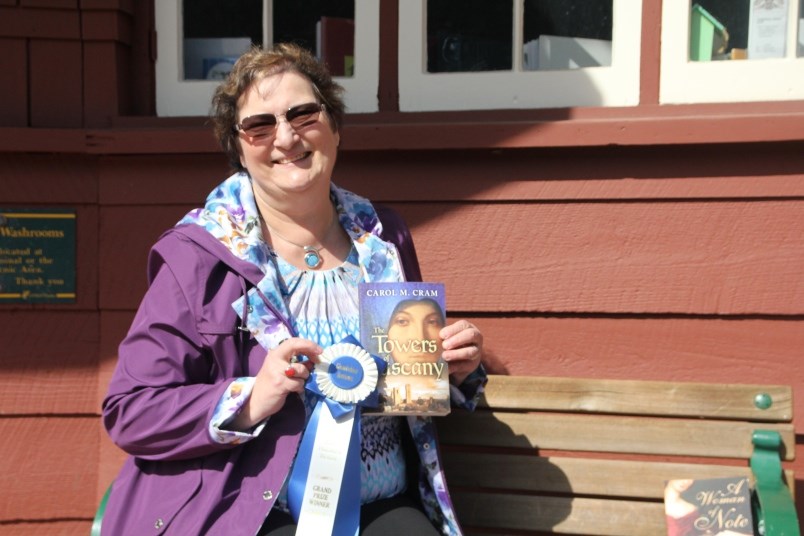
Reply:
[[[689,0],[662,2],[659,103],[704,104],[804,99],[804,57],[796,57],[798,20],[802,15],[797,13],[798,4],[797,0],[788,4],[786,57],[701,62],[688,60]]]

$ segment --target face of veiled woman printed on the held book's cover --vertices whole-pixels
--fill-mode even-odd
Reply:
[[[388,326],[391,357],[397,363],[434,363],[441,357],[444,327],[441,312],[433,304],[415,303],[398,311]]]

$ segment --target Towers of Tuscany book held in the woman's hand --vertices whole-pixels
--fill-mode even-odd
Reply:
[[[387,363],[379,406],[365,413],[446,415],[449,367],[438,332],[446,322],[443,283],[360,283],[360,343]]]

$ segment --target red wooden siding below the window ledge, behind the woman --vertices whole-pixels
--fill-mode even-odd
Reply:
[[[407,218],[426,277],[447,283],[454,317],[483,328],[493,372],[791,383],[804,414],[802,153],[760,175],[761,147],[710,148],[706,166],[680,161],[687,149],[699,152],[346,152],[337,175]],[[45,418],[59,434],[7,463],[61,464],[76,455],[65,442],[80,447],[85,463],[22,485],[46,493],[54,479],[89,478],[64,506],[88,517],[122,461],[96,415],[148,248],[226,165],[215,154],[1,160],[4,204],[77,208],[80,259],[75,306],[0,309],[2,340],[13,341],[0,425],[49,437],[31,430]],[[6,511],[27,507],[16,501]]]

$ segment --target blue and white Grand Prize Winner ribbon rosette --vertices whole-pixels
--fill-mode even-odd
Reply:
[[[386,367],[351,336],[319,356],[305,386],[317,402],[288,483],[296,534],[358,534],[360,408],[377,407]]]

